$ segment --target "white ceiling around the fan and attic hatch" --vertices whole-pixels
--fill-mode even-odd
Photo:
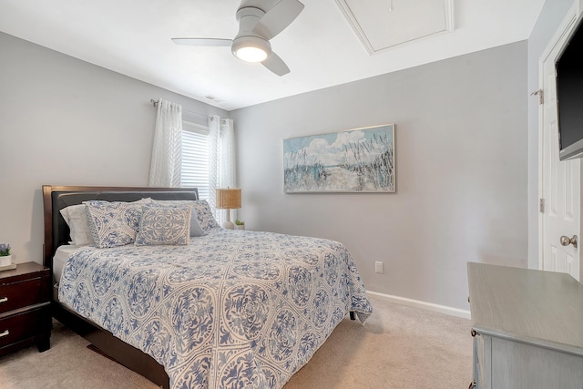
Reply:
[[[230,47],[177,46],[170,41],[184,36],[233,38],[240,0],[0,0],[0,31],[232,110],[525,40],[545,3],[450,0],[453,32],[369,55],[335,0],[301,1],[302,14],[271,39],[273,51],[291,69],[283,77],[240,61]],[[393,3],[398,12],[410,1],[361,0],[359,12],[369,7],[374,15],[383,3]],[[411,23],[399,18],[399,24],[420,25],[420,14],[409,14],[403,18],[413,17]],[[397,24],[386,25],[394,34],[390,26]]]

